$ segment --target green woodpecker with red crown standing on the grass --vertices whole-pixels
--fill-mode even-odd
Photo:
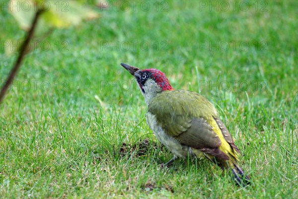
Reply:
[[[237,163],[240,151],[210,101],[195,92],[174,90],[166,76],[157,69],[121,66],[139,83],[148,105],[150,129],[174,154],[166,165],[188,156],[207,158],[230,172],[238,185],[250,183]]]

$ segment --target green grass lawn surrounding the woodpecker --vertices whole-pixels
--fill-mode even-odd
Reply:
[[[98,8],[26,56],[0,105],[0,198],[297,198],[297,1],[141,2]],[[3,85],[16,58],[3,42],[24,32],[1,9]],[[253,185],[206,160],[161,168],[172,154],[120,63],[213,101]]]

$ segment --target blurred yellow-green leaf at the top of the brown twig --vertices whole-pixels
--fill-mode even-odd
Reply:
[[[44,9],[37,26],[37,34],[49,28],[65,28],[78,25],[83,20],[97,18],[99,14],[79,1],[74,0],[11,0],[9,11],[15,17],[20,27],[28,30],[34,13]]]

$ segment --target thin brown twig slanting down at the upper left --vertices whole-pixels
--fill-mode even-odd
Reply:
[[[30,43],[30,40],[34,34],[34,30],[36,28],[36,24],[37,24],[37,21],[38,21],[38,18],[40,16],[40,14],[43,12],[44,10],[40,9],[36,12],[35,16],[34,16],[34,19],[33,19],[33,22],[32,22],[32,25],[31,25],[31,28],[27,34],[27,37],[25,39],[25,41],[22,43],[21,45],[21,48],[20,48],[20,52],[19,52],[19,55],[18,55],[18,58],[13,66],[13,68],[11,69],[8,77],[7,77],[7,80],[4,84],[4,86],[2,86],[1,88],[1,92],[0,92],[0,103],[2,102],[2,100],[4,99],[4,96],[5,96],[5,93],[8,89],[8,87],[10,86],[10,84],[12,83],[13,79],[14,79],[14,76],[16,75],[16,73],[18,72],[20,66],[21,66],[21,63],[24,59],[24,56],[26,54],[26,51],[28,49],[28,45]]]

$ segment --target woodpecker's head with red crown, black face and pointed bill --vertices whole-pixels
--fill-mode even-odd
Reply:
[[[141,70],[127,64],[121,64],[121,66],[136,78],[146,103],[157,93],[173,90],[164,73],[157,69],[150,68]]]

